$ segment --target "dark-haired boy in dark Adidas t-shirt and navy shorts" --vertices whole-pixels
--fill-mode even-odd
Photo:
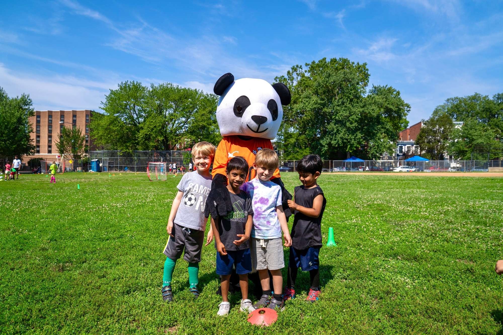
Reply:
[[[211,218],[211,229],[217,249],[217,275],[221,276],[222,302],[218,305],[218,315],[227,315],[230,310],[228,299],[229,279],[232,267],[236,267],[241,288],[239,310],[251,312],[255,308],[248,299],[248,273],[251,272],[251,257],[248,239],[251,233],[251,199],[239,187],[246,180],[248,163],[243,157],[234,157],[227,163],[227,190],[233,211],[216,220]],[[238,239],[236,239],[238,238]]]

